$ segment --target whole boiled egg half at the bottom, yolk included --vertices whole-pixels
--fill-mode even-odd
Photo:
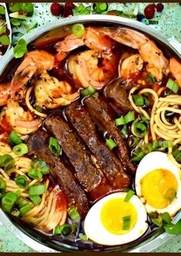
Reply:
[[[127,202],[126,192],[103,197],[85,217],[86,236],[103,245],[126,244],[136,240],[148,228],[147,214],[139,197],[133,195]]]

